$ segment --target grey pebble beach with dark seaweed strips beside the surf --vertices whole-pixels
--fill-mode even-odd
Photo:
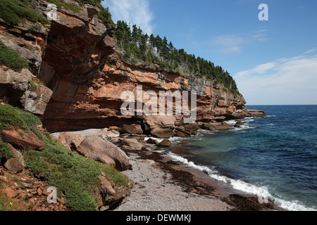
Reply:
[[[115,211],[282,211],[154,150],[127,153],[135,186]]]

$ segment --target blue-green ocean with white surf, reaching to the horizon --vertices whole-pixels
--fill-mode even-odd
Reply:
[[[317,210],[317,105],[247,108],[264,110],[268,117],[246,118],[231,131],[172,138],[173,146],[165,152],[286,210]]]

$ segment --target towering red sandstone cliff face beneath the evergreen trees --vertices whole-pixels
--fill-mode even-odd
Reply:
[[[38,11],[45,15],[47,4],[41,1]],[[58,17],[51,21],[49,31],[36,32],[40,35],[32,39],[35,48],[24,48],[32,52],[26,55],[35,56],[35,60],[29,60],[33,75],[52,91],[48,104],[42,102],[46,109],[39,113],[46,129],[64,131],[135,123],[139,117],[121,115],[120,94],[136,92],[137,85],[142,85],[143,91],[156,93],[197,91],[197,120],[246,115],[243,96],[233,96],[206,79],[123,62],[111,30],[96,15],[98,11],[89,5],[80,13],[58,8]]]

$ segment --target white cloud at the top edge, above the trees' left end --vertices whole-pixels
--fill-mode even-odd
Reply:
[[[104,7],[109,7],[115,23],[124,20],[131,25],[141,27],[144,33],[152,34],[153,13],[149,9],[148,0],[107,0],[102,4]]]

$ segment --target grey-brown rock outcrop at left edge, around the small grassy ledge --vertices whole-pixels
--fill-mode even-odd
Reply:
[[[49,26],[22,20],[19,25],[9,25],[0,19],[0,39],[6,45],[17,51],[27,60],[30,70],[24,68],[15,72],[6,66],[0,66],[0,97],[13,105],[25,110],[43,115],[46,104],[51,97],[51,90],[38,83],[37,80],[42,64],[42,56],[46,46]]]

